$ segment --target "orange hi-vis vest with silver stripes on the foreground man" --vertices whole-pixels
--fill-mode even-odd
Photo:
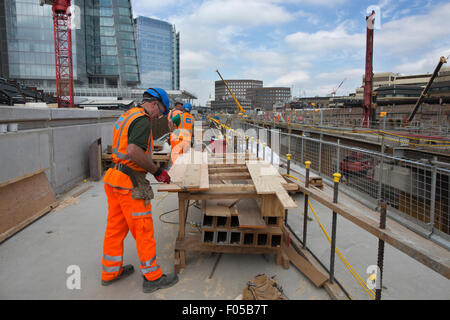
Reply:
[[[128,129],[130,128],[130,124],[139,117],[148,117],[150,119],[150,124],[152,123],[150,116],[145,113],[143,108],[139,107],[131,108],[117,120],[113,131],[112,160],[115,164],[124,164],[134,171],[145,172],[145,169],[139,167],[135,162],[131,161],[127,154]],[[153,135],[150,132],[148,147],[145,153],[151,156],[152,149]],[[108,169],[103,181],[111,187],[122,190],[131,190],[133,188],[133,183],[131,182],[130,177],[115,168]]]

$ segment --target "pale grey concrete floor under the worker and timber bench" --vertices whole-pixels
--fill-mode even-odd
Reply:
[[[179,275],[177,285],[144,294],[131,234],[125,239],[124,263],[132,263],[136,272],[103,287],[101,259],[107,217],[103,183],[88,181],[69,195],[86,186],[92,188],[78,198],[67,198],[63,205],[0,244],[0,299],[233,300],[242,293],[247,281],[260,273],[276,276],[275,280],[291,300],[330,299],[324,289],[316,288],[293,265],[287,270],[277,266],[273,255],[223,254],[212,274],[219,255],[198,252],[187,252],[187,266]],[[299,208],[289,210],[288,221],[301,235],[303,196],[294,198]],[[152,204],[158,264],[163,272],[169,273],[173,271],[178,226],[167,221],[177,222],[178,213],[161,214],[177,209],[177,195],[156,193]],[[330,233],[330,210],[315,201],[312,205]],[[189,212],[188,221],[200,223],[200,210],[191,206]],[[328,267],[330,245],[311,211],[310,216],[308,246]],[[338,217],[337,226],[337,248],[366,281],[367,268],[377,262],[377,239],[342,217]],[[187,232],[199,231],[188,226]],[[71,282],[76,274],[74,270],[81,272],[79,289],[68,288],[74,283]],[[384,271],[383,299],[450,299],[449,280],[389,245],[385,248]],[[353,299],[371,300],[338,256],[335,275]]]

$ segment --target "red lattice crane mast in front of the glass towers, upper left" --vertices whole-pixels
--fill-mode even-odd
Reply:
[[[59,108],[74,106],[71,0],[41,0],[41,6],[52,6],[55,43],[56,97]]]

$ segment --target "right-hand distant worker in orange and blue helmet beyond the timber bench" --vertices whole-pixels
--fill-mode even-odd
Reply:
[[[192,105],[187,102],[183,105],[183,113],[171,119],[175,127],[170,137],[172,165],[177,157],[186,153],[191,146],[192,126],[194,124],[194,117],[190,114],[191,110]]]

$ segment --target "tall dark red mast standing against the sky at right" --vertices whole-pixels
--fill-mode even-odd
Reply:
[[[373,29],[375,22],[375,11],[366,17],[367,36],[366,36],[366,73],[364,76],[364,101],[363,101],[363,119],[362,126],[368,127],[371,119],[372,107],[372,79],[373,79]],[[373,113],[372,113],[373,114]]]

